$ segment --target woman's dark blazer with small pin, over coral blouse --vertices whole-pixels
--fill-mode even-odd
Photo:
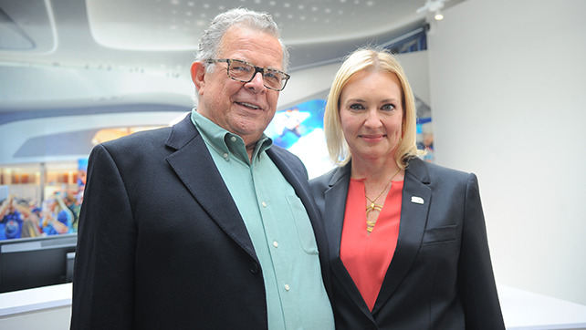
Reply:
[[[399,240],[372,312],[340,260],[351,164],[311,180],[337,329],[504,329],[474,174],[409,161]],[[376,230],[376,229],[375,229]]]

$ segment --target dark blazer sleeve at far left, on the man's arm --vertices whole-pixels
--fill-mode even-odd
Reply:
[[[71,329],[130,329],[136,227],[125,185],[102,145],[89,156],[78,227]]]

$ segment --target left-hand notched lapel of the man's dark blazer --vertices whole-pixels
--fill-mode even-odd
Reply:
[[[257,260],[240,212],[189,115],[173,126],[166,145],[176,150],[167,157],[167,162],[194,199],[220,228]]]

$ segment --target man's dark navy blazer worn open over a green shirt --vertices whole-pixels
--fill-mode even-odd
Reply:
[[[327,270],[307,170],[287,150],[267,154],[305,205]],[[246,226],[189,116],[92,150],[72,329],[267,329],[265,295]]]

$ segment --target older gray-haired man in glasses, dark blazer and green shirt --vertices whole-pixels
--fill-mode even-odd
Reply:
[[[72,329],[333,328],[307,171],[263,134],[287,58],[269,15],[218,15],[191,116],[92,151]]]

